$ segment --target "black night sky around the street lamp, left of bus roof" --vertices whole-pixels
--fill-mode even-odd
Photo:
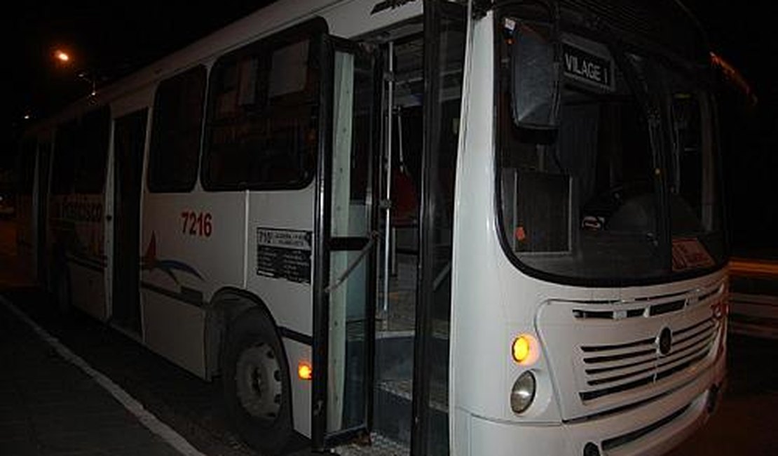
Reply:
[[[147,65],[213,30],[245,16],[268,0],[138,0],[61,2],[33,0],[6,14],[13,120],[34,117],[89,93],[79,73],[96,76],[98,87]],[[110,5],[110,6],[109,6]],[[55,49],[72,54],[58,65]],[[8,64],[6,64],[8,65]],[[8,68],[8,66],[6,67]]]

